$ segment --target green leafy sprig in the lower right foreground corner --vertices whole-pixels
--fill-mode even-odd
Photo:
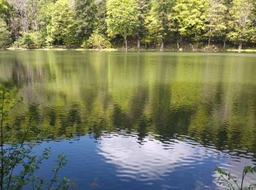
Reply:
[[[218,178],[218,182],[219,185],[225,187],[225,189],[238,189],[238,190],[242,190],[242,189],[255,189],[256,188],[256,184],[251,184],[247,187],[244,187],[244,178],[246,176],[246,174],[248,173],[256,173],[256,166],[252,167],[252,166],[246,166],[244,167],[243,170],[243,175],[241,178],[241,183],[238,182],[237,178],[233,175],[230,174],[230,172],[225,172],[219,168],[215,169],[216,172],[219,173],[219,178]]]

